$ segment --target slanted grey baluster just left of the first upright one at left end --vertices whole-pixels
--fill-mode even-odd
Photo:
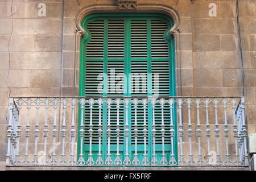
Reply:
[[[14,163],[16,165],[20,164],[19,160],[19,141],[20,141],[20,133],[21,133],[21,114],[22,114],[22,104],[23,100],[20,98],[18,100],[18,110],[19,110],[19,115],[18,115],[18,125],[17,125],[17,148],[16,148],[16,155],[15,155],[15,160]]]

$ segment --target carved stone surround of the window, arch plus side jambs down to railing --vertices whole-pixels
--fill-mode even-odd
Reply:
[[[162,13],[172,18],[174,25],[169,30],[170,35],[175,35],[175,77],[176,77],[176,95],[181,96],[181,51],[180,51],[180,16],[177,11],[167,5],[159,4],[138,4],[136,9],[119,9],[117,5],[90,5],[82,8],[76,15],[76,39],[75,39],[75,69],[74,69],[74,94],[77,95],[78,79],[77,79],[77,65],[79,64],[80,44],[79,38],[85,34],[84,28],[81,26],[82,19],[85,16],[94,13]],[[177,67],[179,65],[179,67]],[[179,81],[178,81],[179,80]]]

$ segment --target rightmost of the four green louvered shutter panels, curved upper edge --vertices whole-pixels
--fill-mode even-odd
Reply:
[[[168,60],[169,47],[164,40],[164,32],[168,26],[163,20],[151,20],[151,72],[152,93],[161,96],[170,96],[170,63]],[[158,59],[161,58],[161,59]],[[165,59],[163,59],[165,58]],[[160,103],[155,105],[156,144],[162,144],[160,130],[162,125],[162,109]],[[170,136],[170,110],[164,105],[165,136]],[[165,137],[165,144],[170,144],[170,137]]]

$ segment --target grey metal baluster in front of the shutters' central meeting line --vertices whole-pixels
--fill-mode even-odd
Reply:
[[[128,109],[129,109],[129,98],[126,98],[125,99],[125,110],[126,110],[126,113],[125,113],[125,139],[126,139],[126,154],[125,154],[125,160],[123,160],[123,164],[125,165],[130,165],[131,164],[131,161],[130,161],[130,158],[129,158],[129,151],[128,151],[128,146],[129,146],[129,122],[128,122]]]

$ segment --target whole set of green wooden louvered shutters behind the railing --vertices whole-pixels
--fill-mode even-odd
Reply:
[[[97,16],[96,16],[97,17]],[[82,46],[85,51],[85,56],[81,61],[84,65],[82,68],[84,71],[85,80],[80,82],[84,85],[82,90],[82,96],[151,96],[158,93],[159,96],[174,96],[174,71],[171,68],[174,63],[171,56],[171,44],[165,38],[167,31],[170,29],[170,23],[164,18],[159,16],[142,16],[139,17],[127,15],[127,16],[113,16],[106,14],[104,17],[88,19],[84,22],[84,27],[89,32],[89,39],[85,41]],[[114,75],[112,70],[114,69]],[[105,73],[108,78],[98,77],[98,74]],[[124,73],[126,76],[122,76]],[[135,74],[135,75],[133,75]],[[137,85],[138,80],[133,80],[137,76],[140,78],[140,84]],[[139,75],[138,75],[139,74]],[[149,75],[148,75],[149,74]],[[151,75],[152,74],[152,75]],[[155,75],[158,75],[159,80],[155,80]],[[114,80],[112,78],[115,77]],[[118,78],[118,79],[116,79]],[[141,80],[143,79],[143,81]],[[137,81],[137,82],[136,82]],[[116,85],[118,85],[116,88]],[[156,92],[156,88],[159,91]],[[98,92],[100,90],[100,92]],[[98,149],[98,137],[97,137],[97,125],[98,125],[98,105],[94,104],[93,109],[93,155],[96,161],[97,149]],[[162,151],[162,138],[160,133],[160,125],[162,122],[160,104],[155,105],[155,123],[156,123],[156,152],[160,154]],[[152,109],[151,105],[147,105],[147,125],[148,131],[152,129]],[[121,106],[123,108],[123,106]],[[86,105],[85,109],[85,158],[88,158],[89,148],[89,105]],[[131,131],[131,137],[129,139],[130,158],[133,159],[134,154],[134,108],[129,109],[129,125]],[[117,122],[117,109],[116,105],[112,104],[111,109],[111,151],[114,161],[116,152],[116,137],[115,129]],[[102,109],[102,125],[106,130],[107,123],[107,107],[104,104]],[[119,123],[121,125],[121,133],[119,140],[120,154],[123,160],[125,154],[125,140],[124,140],[124,123],[125,123],[125,111],[119,110]],[[139,137],[138,137],[138,153],[139,158],[142,158],[143,154],[143,105],[139,104],[137,109],[137,123],[139,125]],[[166,153],[170,151],[170,110],[168,105],[164,109],[164,124],[166,129]],[[168,138],[168,139],[167,139]],[[103,133],[101,140],[101,148],[103,154],[103,160],[106,155],[106,132]],[[147,140],[148,156],[152,154],[152,136],[148,135]],[[168,158],[168,155],[167,155]],[[160,155],[159,155],[160,161]]]

